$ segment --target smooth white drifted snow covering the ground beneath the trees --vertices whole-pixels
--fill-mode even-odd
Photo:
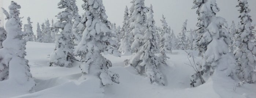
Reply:
[[[99,79],[79,80],[79,63],[73,68],[48,67],[48,55],[53,49],[54,44],[27,42],[26,59],[37,83],[36,93],[17,95],[10,90],[7,92],[11,93],[0,95],[0,98],[256,98],[256,84],[234,87],[237,82],[216,73],[207,83],[191,88],[189,76],[194,72],[185,64],[188,63],[187,54],[182,50],[168,54],[168,66],[161,67],[167,86],[152,85],[145,76],[124,66],[123,61],[130,56],[105,55],[113,63],[110,70],[119,74],[120,84],[100,88]],[[200,59],[196,57],[197,61]]]

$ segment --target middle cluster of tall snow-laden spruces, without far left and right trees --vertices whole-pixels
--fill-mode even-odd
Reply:
[[[85,13],[82,17],[78,14],[75,2],[61,0],[58,3],[59,8],[64,11],[57,15],[59,20],[54,24],[57,29],[56,47],[50,55],[50,66],[73,67],[74,61],[81,61],[81,79],[93,75],[105,86],[119,83],[119,75],[108,71],[112,66],[111,61],[101,53],[114,56],[133,53],[126,64],[147,76],[152,84],[165,85],[159,66],[166,65],[168,57],[165,53],[171,52],[171,41],[177,39],[172,39],[175,35],[171,34],[164,16],[163,27],[157,33],[152,5],[150,8],[145,7],[144,0],[133,0],[130,13],[128,7],[125,8],[121,28],[107,20],[102,0],[84,0],[82,7]],[[37,30],[39,34],[43,31],[40,27]],[[77,56],[81,60],[75,59]]]

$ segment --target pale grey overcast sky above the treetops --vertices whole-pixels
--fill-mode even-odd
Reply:
[[[60,0],[3,0],[3,7],[8,9],[11,1],[16,1],[21,5],[21,16],[24,16],[23,24],[27,23],[26,18],[30,16],[33,23],[33,30],[36,33],[36,24],[40,24],[45,21],[45,19],[54,19],[56,21],[55,15],[57,15],[59,10],[57,8],[57,3]],[[124,8],[127,5],[130,8],[131,0],[103,0],[103,4],[108,15],[108,20],[112,23],[122,25]],[[256,0],[248,0],[249,8],[251,8],[250,15],[253,19],[253,24],[256,24]],[[216,0],[220,8],[220,12],[217,16],[224,17],[228,23],[232,20],[238,23],[238,8],[235,6],[238,4],[237,0]],[[83,4],[82,0],[77,0],[77,5],[79,7],[79,14],[84,13],[81,8]],[[174,29],[177,35],[181,31],[182,23],[185,19],[188,19],[188,29],[196,28],[195,24],[197,22],[196,10],[192,10],[193,0],[145,0],[145,5],[153,5],[153,10],[155,11],[156,25],[161,26],[160,19],[162,14],[166,16],[167,23]],[[0,4],[1,5],[1,4]],[[1,13],[2,14],[2,13]]]

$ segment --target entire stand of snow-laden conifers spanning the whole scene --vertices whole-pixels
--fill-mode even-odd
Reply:
[[[57,5],[63,11],[57,14],[57,22],[52,20],[50,24],[47,19],[41,25],[37,23],[37,37],[29,17],[22,31],[20,5],[12,1],[9,13],[3,9],[7,22],[5,29],[0,27],[0,81],[15,80],[28,85],[27,91],[33,91],[35,82],[25,59],[25,45],[27,41],[36,41],[55,42],[49,66],[70,68],[74,61],[80,61],[81,79],[95,76],[102,86],[119,83],[119,75],[108,70],[112,64],[103,53],[117,57],[131,54],[131,58],[125,60],[127,66],[145,75],[152,84],[164,86],[164,75],[159,67],[166,65],[169,58],[166,53],[175,49],[199,50],[203,57],[197,63],[196,73],[191,76],[192,87],[205,83],[214,75],[220,61],[232,59],[236,62],[225,65],[227,68],[222,70],[227,76],[242,83],[256,82],[256,72],[253,71],[256,34],[247,0],[238,0],[241,21],[238,26],[233,22],[229,28],[224,18],[216,16],[220,9],[215,0],[194,0],[199,29],[187,30],[188,20],[185,20],[178,38],[164,15],[160,20],[162,26],[155,26],[153,6],[146,7],[144,0],[132,0],[130,9],[125,7],[122,27],[108,21],[102,0],[83,1],[85,12],[80,16],[76,0],[60,0]]]

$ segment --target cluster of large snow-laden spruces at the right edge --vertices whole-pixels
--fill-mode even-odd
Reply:
[[[220,9],[215,0],[194,0],[193,9],[197,9],[198,23],[196,30],[196,47],[203,57],[197,63],[197,72],[191,76],[191,86],[199,86],[205,83],[208,78],[219,72],[218,68],[227,66],[223,69],[226,76],[239,79],[242,83],[255,83],[256,72],[256,39],[255,32],[252,30],[251,16],[247,0],[238,0],[240,23],[235,27],[233,22],[229,31],[226,20],[217,17],[216,12]],[[221,65],[220,61],[232,60],[235,63]]]

